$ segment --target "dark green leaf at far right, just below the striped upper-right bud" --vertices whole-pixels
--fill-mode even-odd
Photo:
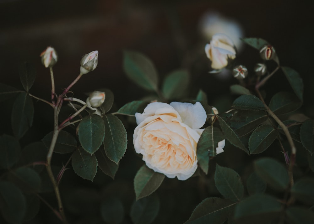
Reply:
[[[300,99],[300,101],[303,101],[303,80],[300,77],[299,73],[293,70],[289,67],[281,67],[282,71],[286,75],[293,91],[297,95],[297,97]]]

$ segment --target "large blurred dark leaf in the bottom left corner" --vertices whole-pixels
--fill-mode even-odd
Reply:
[[[3,218],[9,223],[22,223],[26,213],[26,200],[20,189],[11,182],[0,181],[0,195],[3,199]]]

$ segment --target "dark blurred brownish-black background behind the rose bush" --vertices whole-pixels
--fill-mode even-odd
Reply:
[[[129,101],[138,100],[147,95],[147,92],[127,79],[122,69],[123,50],[134,50],[144,53],[154,62],[161,79],[175,69],[188,69],[193,84],[190,96],[195,97],[198,89],[202,88],[208,94],[209,104],[217,106],[219,112],[224,112],[225,110],[221,111],[221,109],[227,110],[234,99],[233,96],[230,98],[229,86],[237,81],[232,78],[222,80],[208,74],[209,67],[205,52],[202,52],[203,56],[200,58],[194,57],[195,49],[198,49],[198,46],[203,49],[206,43],[200,37],[198,23],[203,13],[208,10],[236,19],[242,25],[244,36],[261,37],[275,47],[281,65],[295,69],[303,78],[304,105],[300,112],[314,118],[313,1],[2,0],[0,1],[0,83],[22,89],[19,82],[18,64],[21,61],[32,62],[37,69],[37,77],[30,93],[49,100],[50,75],[49,70],[41,65],[40,53],[49,45],[56,49],[59,60],[53,70],[56,92],[60,93],[61,89],[66,88],[78,75],[81,57],[90,51],[98,50],[97,68],[84,75],[71,90],[75,97],[84,99],[86,92],[97,88],[109,88],[115,94],[115,107],[119,108]],[[246,65],[249,72],[252,71],[255,63],[260,62],[257,51],[248,46],[245,46],[236,60],[239,64]],[[270,67],[272,66],[275,65],[270,63]],[[292,92],[281,71],[277,72],[262,89],[268,93],[265,99],[267,102],[274,93],[282,90]],[[21,139],[22,145],[29,143],[30,139],[39,141],[52,130],[51,108],[41,102],[34,104],[35,127]],[[2,102],[0,106],[4,117],[0,121],[2,127],[0,134],[12,134],[11,106],[10,101]],[[31,138],[28,138],[29,136]],[[132,147],[132,133],[129,137],[128,147]],[[133,158],[134,155],[128,149],[125,157]],[[92,192],[95,189],[102,189],[105,192],[108,188],[119,190],[119,187],[123,189],[126,186],[130,187],[130,191],[133,192],[134,175],[143,163],[135,156],[139,165],[130,168],[128,165],[132,163],[125,157],[122,158],[121,167],[117,173],[118,181],[114,182],[117,183],[116,185],[104,185],[106,181],[109,183],[111,180],[109,177],[104,178],[104,175],[99,176],[100,171],[96,175],[95,185],[76,177],[73,171],[68,171],[65,174],[68,176],[65,176],[63,186],[68,186],[69,189],[61,189],[62,192],[79,191],[80,189],[71,188],[71,184],[85,186],[87,182],[86,187],[93,189]],[[229,160],[233,158],[230,157]],[[67,159],[57,155],[54,161],[60,165]],[[233,163],[236,162],[233,161]],[[230,164],[229,167],[232,167]],[[119,179],[127,182],[122,181],[119,185]],[[172,198],[172,202],[176,201],[185,206],[181,210],[174,211],[177,212],[177,216],[172,217],[172,223],[176,223],[175,217],[180,220],[177,220],[177,223],[186,221],[193,208],[200,202],[198,196],[196,196],[197,199],[194,198],[195,192],[192,196],[190,195],[189,189],[194,188],[194,183],[191,181],[183,183],[165,179],[166,184],[164,183],[160,189],[160,194],[165,194]],[[174,189],[182,186],[185,190],[171,195]],[[88,198],[93,195],[90,192],[84,194]],[[80,195],[81,198],[84,198],[84,194]],[[187,205],[186,201],[180,201],[182,197],[179,194],[190,195],[191,204]],[[75,195],[75,197],[78,196]],[[96,195],[95,198],[97,197]],[[129,197],[133,200],[134,195]],[[52,194],[51,199],[53,198]],[[69,212],[71,208],[66,206],[66,209],[68,213],[71,213]],[[41,214],[45,212],[54,217],[42,205]],[[181,215],[180,212],[184,214]],[[163,214],[167,214],[167,211]],[[159,221],[171,221],[165,215],[160,217],[164,217],[164,220],[159,218]],[[46,221],[46,219],[43,220]],[[56,220],[52,218],[51,223],[54,221]]]

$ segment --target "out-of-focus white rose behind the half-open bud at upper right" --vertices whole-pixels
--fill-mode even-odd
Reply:
[[[199,29],[203,37],[209,41],[216,33],[222,33],[230,37],[238,52],[243,47],[243,29],[234,19],[228,19],[216,12],[205,13],[199,23]]]

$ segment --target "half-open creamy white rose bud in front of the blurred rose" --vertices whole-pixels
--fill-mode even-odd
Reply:
[[[228,59],[236,58],[232,40],[225,34],[215,34],[205,46],[206,56],[212,61],[211,67],[219,70],[228,65]]]

